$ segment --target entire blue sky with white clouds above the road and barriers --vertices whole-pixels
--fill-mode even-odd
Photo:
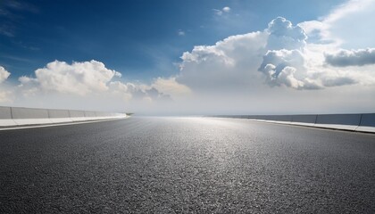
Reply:
[[[375,110],[374,0],[0,1],[0,105]]]

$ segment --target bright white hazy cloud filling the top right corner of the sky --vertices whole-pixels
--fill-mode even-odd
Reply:
[[[375,1],[350,0],[337,6],[319,21],[299,25],[315,43],[334,43],[341,48],[358,49],[375,46]]]

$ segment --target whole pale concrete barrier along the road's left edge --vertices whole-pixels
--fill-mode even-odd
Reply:
[[[121,119],[125,117],[125,113],[104,111],[54,110],[0,106],[0,127]]]

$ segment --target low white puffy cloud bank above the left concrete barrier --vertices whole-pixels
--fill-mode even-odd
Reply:
[[[56,108],[53,104],[91,103],[92,106],[137,106],[150,103],[172,102],[171,95],[188,91],[174,78],[157,78],[150,84],[121,81],[121,73],[105,67],[103,62],[49,62],[45,68],[35,70],[35,77],[18,78],[19,85],[13,86],[16,103],[32,104],[34,107]],[[171,94],[169,94],[171,93]],[[4,90],[1,93],[4,100]],[[9,97],[9,94],[7,94]],[[48,97],[48,98],[47,98]],[[45,103],[46,99],[54,100]],[[63,101],[66,101],[65,103]],[[104,102],[105,101],[105,102]],[[134,105],[135,106],[135,105]],[[57,108],[62,108],[57,105]],[[71,105],[65,108],[76,108]]]

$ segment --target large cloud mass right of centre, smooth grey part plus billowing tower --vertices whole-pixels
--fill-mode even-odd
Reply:
[[[310,45],[307,38],[300,26],[278,17],[263,31],[195,46],[183,53],[176,81],[194,92],[222,93],[260,87],[264,82],[298,90],[323,89],[364,84],[363,77],[371,77],[369,71],[358,74],[327,68],[324,53],[331,47]]]

